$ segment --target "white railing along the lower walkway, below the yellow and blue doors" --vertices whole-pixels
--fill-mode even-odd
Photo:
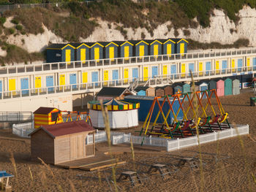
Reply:
[[[227,69],[217,69],[209,70],[206,72],[192,72],[194,80],[206,80],[209,78],[217,77],[229,77],[233,75],[240,74],[252,74],[256,72],[256,66],[244,66],[238,68],[227,68]],[[12,99],[27,96],[43,96],[55,93],[89,93],[94,91],[99,91],[103,87],[129,87],[136,78],[120,79],[120,80],[108,80],[99,82],[86,82],[72,85],[57,85],[53,87],[46,88],[30,88],[19,91],[3,91],[0,92],[0,99]],[[168,74],[159,75],[155,77],[141,77],[138,78],[138,84],[140,85],[150,85],[152,87],[159,85],[168,85],[172,82],[183,82],[190,81],[191,74],[178,73],[178,74]]]

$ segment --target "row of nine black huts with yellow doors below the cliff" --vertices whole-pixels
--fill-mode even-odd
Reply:
[[[46,48],[47,63],[172,55],[187,53],[183,38],[143,39],[112,42],[52,44]]]

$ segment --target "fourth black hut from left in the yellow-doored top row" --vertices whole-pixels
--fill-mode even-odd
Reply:
[[[111,61],[114,61],[114,58],[118,58],[118,44],[115,42],[101,42],[101,44],[104,45],[104,58],[109,58]]]

